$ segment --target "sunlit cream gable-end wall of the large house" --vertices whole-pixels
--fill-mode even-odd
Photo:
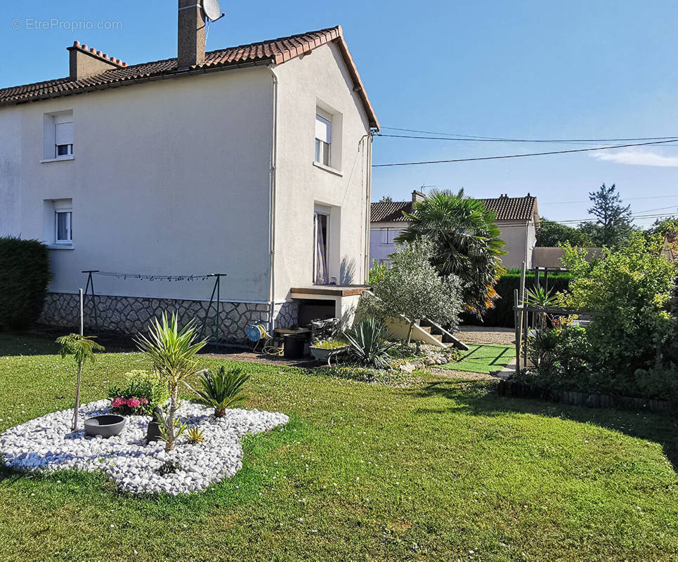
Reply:
[[[330,207],[330,277],[362,283],[370,196],[365,110],[334,44],[275,68],[278,86],[278,159],[275,211],[275,299],[313,284],[313,209]],[[334,172],[313,165],[315,109],[341,115],[334,126]],[[335,146],[337,129],[341,145]],[[340,153],[340,162],[337,155]],[[343,266],[342,266],[343,264]]]

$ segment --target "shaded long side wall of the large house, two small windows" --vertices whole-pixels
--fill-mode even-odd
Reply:
[[[74,159],[41,164],[43,115],[62,110]],[[272,122],[261,67],[1,107],[0,234],[43,239],[43,201],[72,198],[73,249],[51,251],[52,291],[77,292],[86,269],[217,272],[228,273],[222,299],[268,301]],[[209,299],[212,285],[95,282],[100,294],[178,299]]]

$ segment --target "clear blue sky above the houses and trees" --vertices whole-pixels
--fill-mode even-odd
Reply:
[[[341,24],[382,126],[525,139],[678,136],[675,1],[251,6],[222,1],[227,15],[211,25],[207,48]],[[121,23],[98,30],[98,22]],[[74,39],[130,64],[174,56],[176,0],[3,2],[0,30],[0,87],[26,84],[67,75],[65,47]],[[382,137],[374,164],[589,146]],[[636,214],[675,213],[677,178],[678,143],[375,169],[373,199],[405,199],[420,185],[477,197],[530,192],[542,216],[573,220],[587,217],[587,192],[605,182],[617,184]]]

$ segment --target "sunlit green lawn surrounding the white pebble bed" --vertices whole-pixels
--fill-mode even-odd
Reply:
[[[72,405],[74,367],[55,351],[0,335],[0,430]],[[84,400],[145,366],[100,355]],[[129,497],[98,474],[0,471],[0,559],[678,557],[676,419],[501,398],[449,378],[393,388],[245,369],[247,407],[292,421],[247,438],[234,478],[188,497]]]

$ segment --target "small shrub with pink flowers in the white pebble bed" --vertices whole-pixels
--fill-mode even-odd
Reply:
[[[169,392],[157,374],[134,370],[125,374],[125,386],[109,388],[108,398],[112,400],[112,410],[119,414],[151,415],[169,398]]]

